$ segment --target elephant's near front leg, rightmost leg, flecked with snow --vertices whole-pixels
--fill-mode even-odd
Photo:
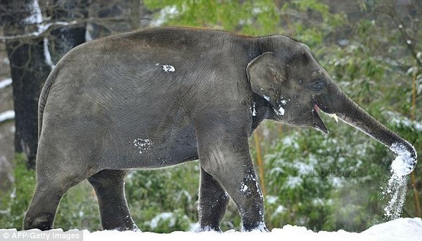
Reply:
[[[224,129],[205,132],[207,134],[204,135],[197,131],[200,165],[234,200],[241,215],[242,230],[265,232],[267,227],[264,223],[264,202],[252,166],[246,131],[232,132],[228,136],[226,131],[219,133],[219,130]],[[212,203],[210,200],[207,202],[208,206]],[[217,200],[214,202],[217,203]],[[221,214],[216,215],[221,219]],[[217,217],[214,217],[213,225],[216,225]]]

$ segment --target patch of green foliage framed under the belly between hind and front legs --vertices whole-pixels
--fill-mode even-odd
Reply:
[[[138,227],[160,233],[189,230],[198,221],[198,180],[198,162],[129,174],[126,196]]]

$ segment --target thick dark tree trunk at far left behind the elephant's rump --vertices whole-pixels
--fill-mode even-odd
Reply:
[[[37,153],[38,98],[51,65],[44,53],[44,37],[39,33],[42,15],[37,1],[1,0],[4,16],[6,50],[10,60],[15,105],[15,152],[27,156],[34,168]]]

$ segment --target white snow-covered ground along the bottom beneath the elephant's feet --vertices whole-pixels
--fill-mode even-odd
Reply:
[[[13,231],[13,230],[1,230]],[[6,236],[5,236],[6,237]],[[11,236],[10,236],[11,237]],[[1,238],[0,238],[1,240]],[[71,239],[70,239],[71,240]],[[80,239],[79,239],[80,240]],[[173,232],[173,233],[135,233],[132,231],[119,232],[115,230],[105,230],[90,233],[88,230],[83,231],[84,241],[115,241],[115,240],[242,240],[242,241],[257,241],[257,240],[312,240],[312,241],[330,241],[330,240],[359,240],[359,241],[421,241],[422,240],[422,219],[419,218],[405,218],[395,219],[387,223],[380,223],[372,226],[362,233],[349,233],[344,230],[337,232],[321,231],[318,233],[312,230],[307,230],[304,227],[286,225],[283,228],[274,228],[270,233],[241,233],[234,230],[229,230],[224,233],[193,233],[193,232]]]

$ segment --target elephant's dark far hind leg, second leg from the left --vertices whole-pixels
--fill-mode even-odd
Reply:
[[[104,230],[139,230],[124,197],[126,171],[103,170],[88,178],[94,187]]]

